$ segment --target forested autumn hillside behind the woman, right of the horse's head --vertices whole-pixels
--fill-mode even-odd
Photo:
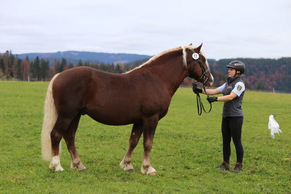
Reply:
[[[221,59],[210,62],[214,83],[219,86],[225,82],[229,62],[242,61],[246,70],[242,80],[246,88],[253,90],[273,90],[291,92],[291,57],[279,59]]]

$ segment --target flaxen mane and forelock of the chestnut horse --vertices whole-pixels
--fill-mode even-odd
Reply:
[[[184,64],[184,66],[186,67],[186,66],[187,66],[187,62],[186,62],[187,52],[186,52],[186,49],[195,49],[195,48],[196,48],[196,47],[194,47],[194,46],[185,46],[185,47],[177,47],[177,48],[174,48],[174,49],[168,49],[168,50],[162,51],[161,53],[159,53],[159,54],[157,54],[157,55],[151,57],[148,61],[146,61],[146,62],[143,63],[142,65],[139,65],[139,66],[135,67],[134,69],[132,69],[132,70],[126,72],[126,73],[129,73],[129,72],[131,72],[131,71],[133,71],[133,70],[135,70],[135,69],[141,68],[141,67],[143,67],[143,66],[145,66],[145,65],[149,65],[149,64],[151,64],[153,61],[155,61],[155,60],[157,60],[159,57],[161,57],[162,55],[167,54],[167,53],[169,53],[169,52],[174,52],[174,51],[177,51],[177,50],[180,50],[180,49],[183,50],[183,64]],[[201,51],[200,51],[200,52],[201,52]],[[203,54],[202,52],[201,52],[201,54],[204,56],[204,54]],[[207,63],[207,62],[206,62],[206,63]],[[208,63],[207,63],[207,66],[208,66]]]

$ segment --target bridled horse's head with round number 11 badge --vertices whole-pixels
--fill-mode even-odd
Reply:
[[[190,78],[195,79],[206,86],[213,85],[213,76],[210,73],[210,68],[207,59],[200,51],[202,44],[195,48],[192,44],[187,47],[187,69]]]

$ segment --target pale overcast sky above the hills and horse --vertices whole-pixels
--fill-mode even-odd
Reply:
[[[291,57],[291,0],[0,0],[0,52]]]

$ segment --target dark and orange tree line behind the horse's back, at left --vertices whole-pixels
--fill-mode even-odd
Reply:
[[[112,73],[124,73],[134,68],[133,65],[121,63],[90,63],[81,60],[78,64],[68,64],[65,58],[62,58],[61,61],[55,60],[52,64],[52,66],[49,66],[49,60],[40,59],[38,56],[35,59],[29,59],[28,56],[25,59],[19,59],[17,55],[7,50],[0,54],[0,80],[27,81],[30,77],[32,81],[46,81],[50,80],[55,74],[76,66],[90,66]]]

